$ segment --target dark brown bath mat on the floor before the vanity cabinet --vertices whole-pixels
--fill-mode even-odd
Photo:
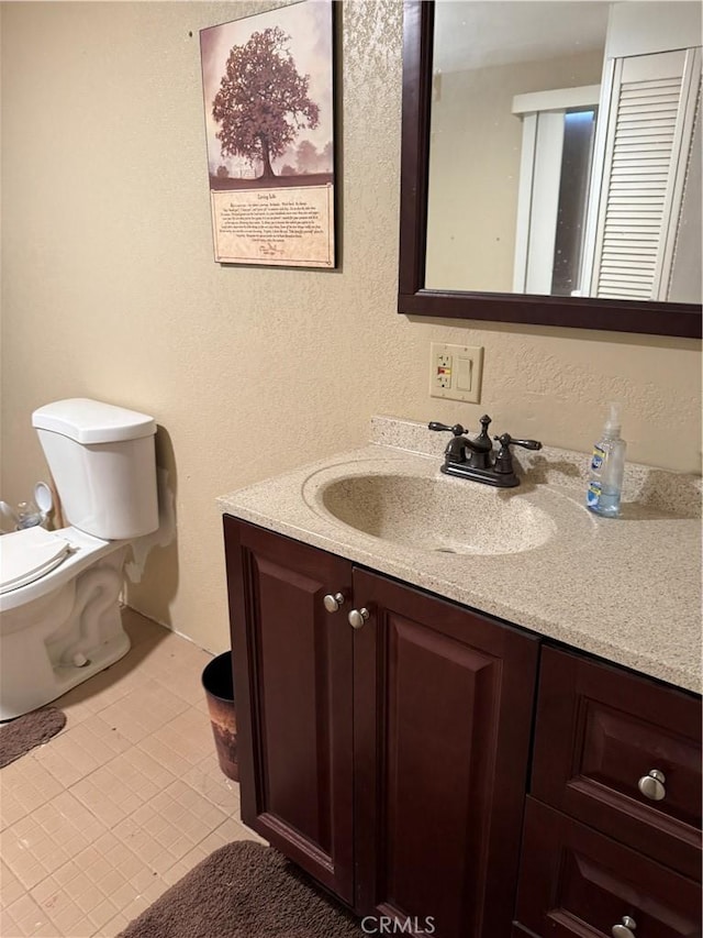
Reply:
[[[341,905],[270,847],[221,847],[118,938],[362,938]]]

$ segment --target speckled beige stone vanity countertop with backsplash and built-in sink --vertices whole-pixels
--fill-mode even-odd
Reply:
[[[518,451],[522,484],[501,490],[439,473],[444,445],[444,437],[424,424],[373,418],[368,446],[224,495],[217,505],[236,518],[700,693],[700,478],[628,464],[622,515],[605,519],[583,507],[583,453]],[[344,479],[353,476],[402,476],[399,506],[417,479],[439,481],[451,512],[438,543],[448,547],[400,543],[339,521],[327,510],[330,493],[344,506]],[[431,489],[432,483],[422,492]],[[510,519],[516,508],[542,527],[536,547],[512,552],[510,539],[504,547],[500,542],[492,509]],[[369,518],[373,510],[369,506]],[[428,506],[416,500],[404,510],[422,521]],[[483,526],[494,552],[446,552],[471,523]]]

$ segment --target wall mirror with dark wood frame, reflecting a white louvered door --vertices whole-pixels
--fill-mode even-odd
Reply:
[[[399,312],[700,338],[700,21],[405,0]]]

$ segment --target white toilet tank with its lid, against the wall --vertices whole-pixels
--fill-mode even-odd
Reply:
[[[158,528],[153,417],[88,398],[32,415],[67,523],[103,540]]]

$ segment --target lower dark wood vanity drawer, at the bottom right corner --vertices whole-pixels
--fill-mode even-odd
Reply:
[[[701,887],[528,797],[516,916],[527,934],[611,938],[625,916],[633,938],[700,938]]]

